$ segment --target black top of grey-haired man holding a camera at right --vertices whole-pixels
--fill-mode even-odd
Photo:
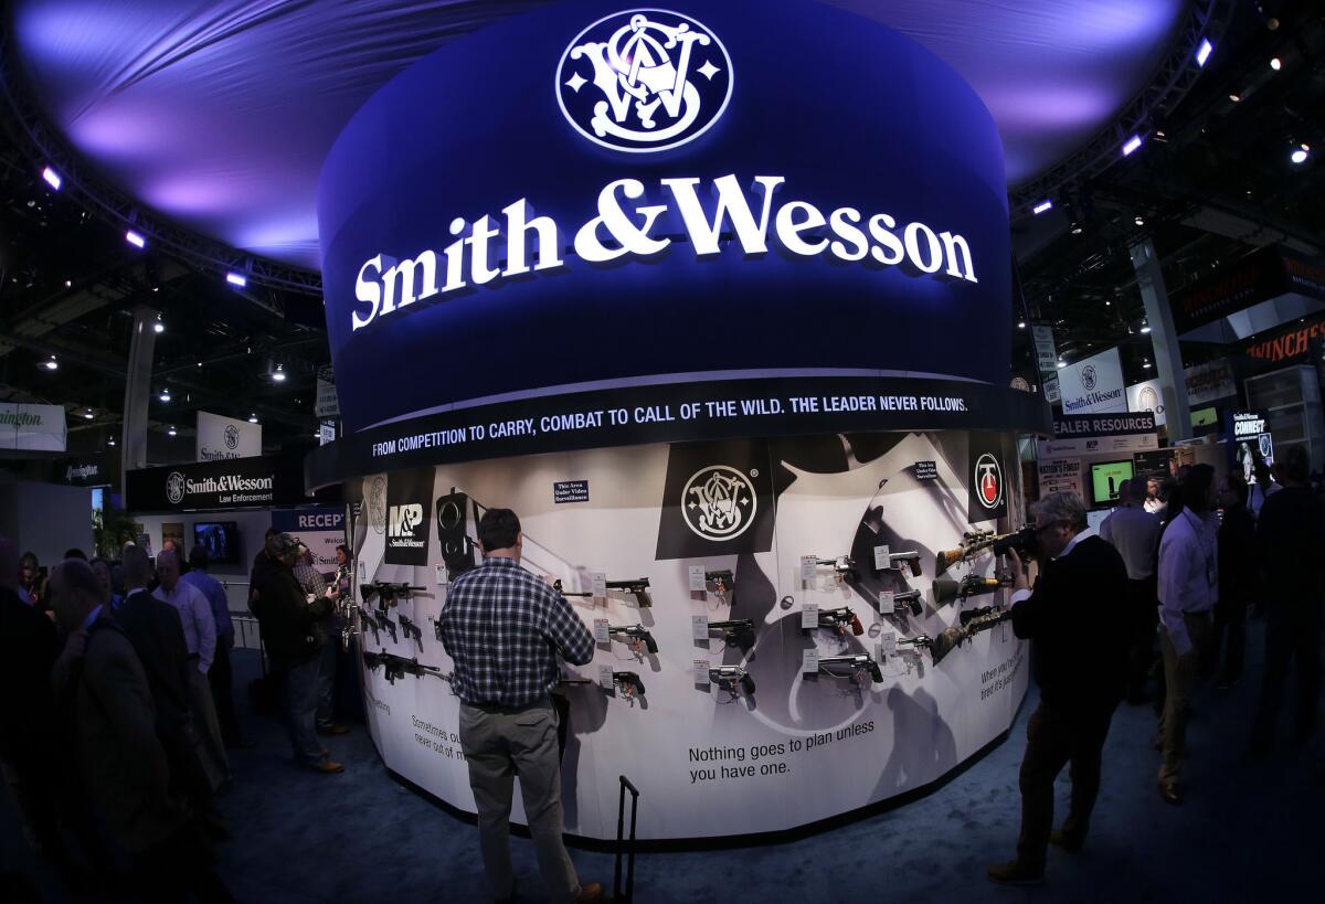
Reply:
[[[1035,640],[1040,699],[1055,708],[1112,710],[1126,681],[1128,569],[1118,550],[1086,537],[1044,566],[1035,591],[1012,607],[1012,631]]]

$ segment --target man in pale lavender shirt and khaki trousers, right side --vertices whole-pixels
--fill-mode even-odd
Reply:
[[[1167,687],[1159,724],[1159,795],[1169,803],[1182,803],[1178,771],[1187,738],[1187,700],[1211,640],[1211,614],[1219,599],[1214,468],[1191,468],[1182,484],[1182,513],[1173,517],[1159,541],[1159,646]]]

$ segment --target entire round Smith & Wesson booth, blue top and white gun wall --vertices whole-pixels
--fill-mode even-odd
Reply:
[[[318,219],[348,432],[305,480],[344,489],[394,773],[474,811],[439,619],[490,508],[596,642],[554,688],[572,836],[623,775],[641,839],[754,836],[1006,734],[992,550],[1049,418],[1008,388],[998,133],[933,54],[796,0],[559,4],[374,95]]]

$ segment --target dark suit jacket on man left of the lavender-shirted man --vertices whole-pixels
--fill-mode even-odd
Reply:
[[[115,610],[115,620],[134,646],[156,704],[156,730],[172,737],[189,720],[188,644],[179,612],[147,590],[134,590]]]

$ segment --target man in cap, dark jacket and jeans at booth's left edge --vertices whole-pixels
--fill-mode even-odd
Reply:
[[[272,672],[281,681],[281,704],[285,709],[286,729],[294,760],[301,766],[322,774],[344,771],[344,766],[331,760],[331,754],[318,741],[318,663],[326,634],[322,620],[331,614],[333,603],[326,596],[311,602],[294,578],[294,566],[303,547],[289,534],[278,534],[268,542],[272,567],[257,587],[253,614],[257,615],[272,660]]]

